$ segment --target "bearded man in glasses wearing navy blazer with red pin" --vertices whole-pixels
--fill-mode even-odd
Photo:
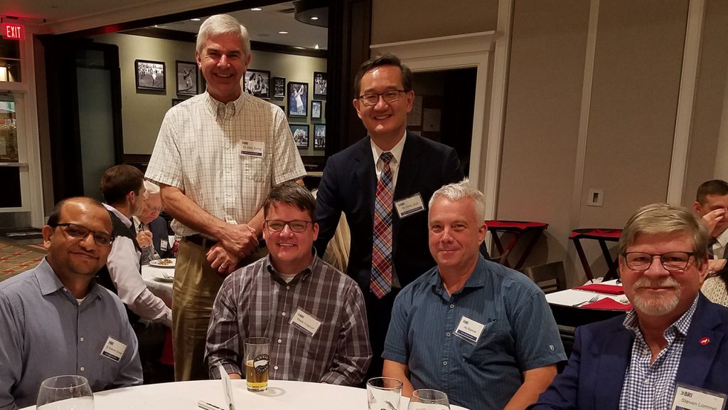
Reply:
[[[639,209],[618,244],[633,309],[577,328],[569,363],[533,408],[673,409],[694,389],[728,392],[728,309],[700,294],[707,249],[708,231],[689,209]]]

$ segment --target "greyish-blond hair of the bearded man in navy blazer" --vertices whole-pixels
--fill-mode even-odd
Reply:
[[[620,255],[625,255],[639,233],[660,235],[676,232],[690,235],[695,260],[702,263],[708,258],[708,228],[705,228],[703,220],[684,206],[670,204],[651,204],[638,209],[622,230],[617,249]]]

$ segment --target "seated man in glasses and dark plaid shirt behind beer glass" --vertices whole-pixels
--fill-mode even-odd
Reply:
[[[218,365],[242,375],[251,336],[272,340],[271,379],[357,386],[371,358],[364,297],[356,283],[318,258],[316,202],[296,182],[273,187],[262,231],[270,254],[228,276],[207,330],[210,376]]]

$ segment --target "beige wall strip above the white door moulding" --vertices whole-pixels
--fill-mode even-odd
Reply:
[[[495,30],[498,0],[373,0],[371,44]]]

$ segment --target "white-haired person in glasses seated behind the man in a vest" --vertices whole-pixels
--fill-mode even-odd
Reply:
[[[142,265],[149,265],[150,260],[167,258],[172,244],[167,235],[167,221],[160,217],[162,213],[162,198],[159,196],[159,185],[144,181],[146,196],[144,209],[138,217],[132,217],[137,242],[141,247]]]

